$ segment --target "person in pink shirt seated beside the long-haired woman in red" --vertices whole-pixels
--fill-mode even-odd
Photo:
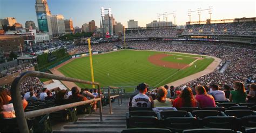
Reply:
[[[212,95],[207,94],[204,86],[196,86],[196,99],[200,108],[216,107],[214,98]]]

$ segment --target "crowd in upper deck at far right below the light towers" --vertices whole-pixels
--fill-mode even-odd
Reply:
[[[182,35],[256,35],[255,22],[186,25]]]

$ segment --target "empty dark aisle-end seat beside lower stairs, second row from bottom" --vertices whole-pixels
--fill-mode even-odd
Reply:
[[[158,119],[154,116],[131,116],[126,124],[127,128],[158,128]]]

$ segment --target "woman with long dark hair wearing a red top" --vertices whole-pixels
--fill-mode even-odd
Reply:
[[[197,107],[196,99],[193,97],[193,93],[190,87],[185,87],[183,91],[180,92],[178,98],[173,101],[173,107]]]

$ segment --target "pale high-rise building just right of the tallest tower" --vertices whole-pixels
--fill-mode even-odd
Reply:
[[[47,20],[49,25],[50,38],[55,38],[65,34],[65,23],[64,17],[62,15],[48,15]]]

